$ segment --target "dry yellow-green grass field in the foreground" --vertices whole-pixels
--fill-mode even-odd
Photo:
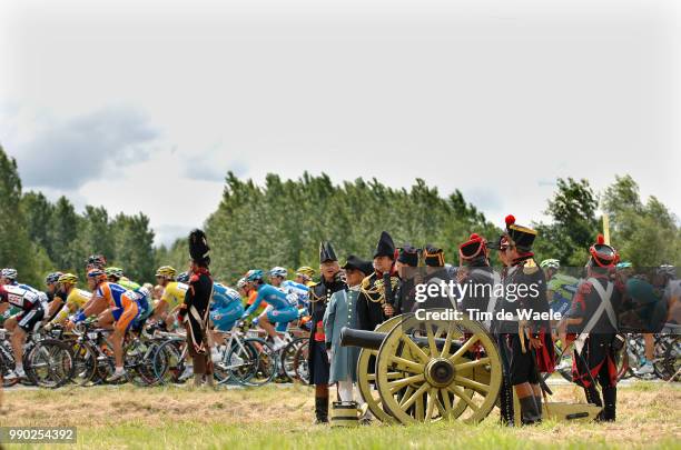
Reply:
[[[581,392],[556,387],[555,399]],[[681,448],[681,387],[619,390],[618,422],[506,429],[497,413],[477,426],[312,426],[313,392],[270,386],[189,392],[186,388],[73,388],[4,392],[2,426],[75,426],[79,448],[250,449],[595,449]],[[16,448],[16,447],[12,447]],[[65,448],[65,446],[59,446]]]

